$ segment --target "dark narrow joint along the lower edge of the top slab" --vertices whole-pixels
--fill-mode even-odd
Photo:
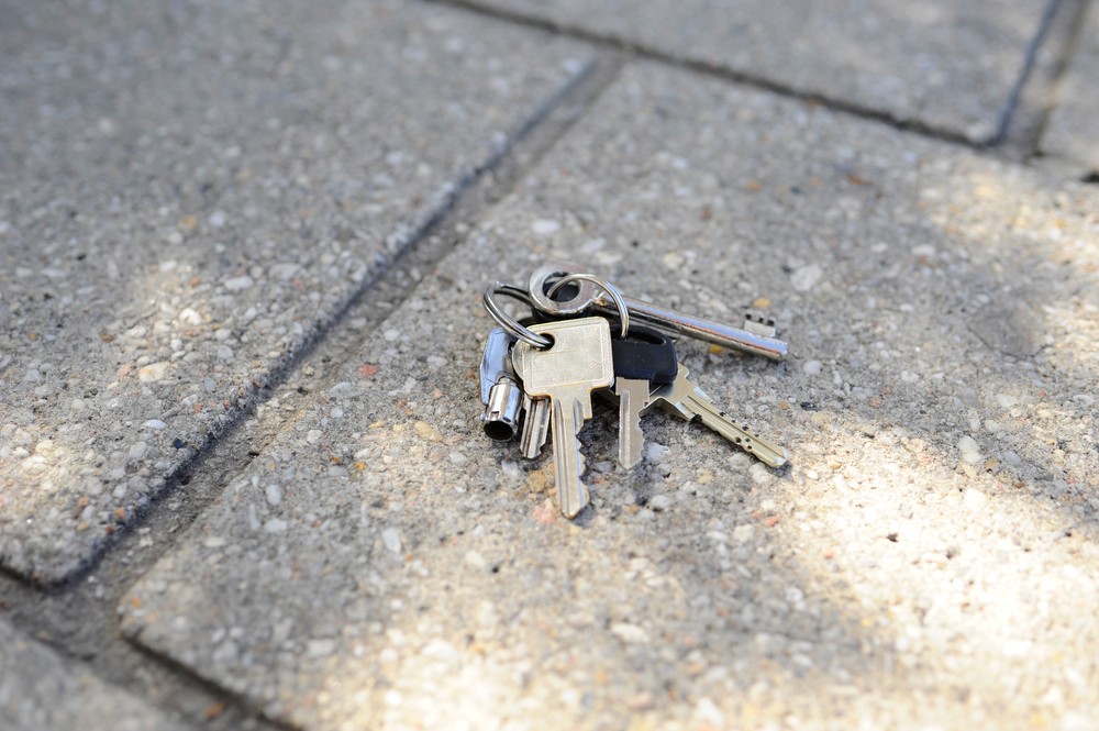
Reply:
[[[667,64],[669,66],[675,66],[677,68],[682,68],[698,74],[703,74],[706,76],[723,79],[725,81],[741,84],[743,86],[758,89],[761,91],[768,91],[770,93],[775,93],[780,97],[797,99],[807,104],[815,104],[832,111],[852,114],[861,119],[879,122],[881,124],[886,124],[902,132],[912,132],[925,137],[940,140],[942,142],[948,142],[956,145],[963,145],[965,147],[970,147],[974,149],[987,149],[993,146],[992,141],[995,140],[995,136],[986,141],[974,141],[970,140],[969,137],[966,137],[964,134],[959,132],[942,129],[933,124],[926,124],[925,122],[921,122],[920,120],[899,118],[888,112],[885,112],[880,109],[874,109],[872,107],[866,107],[864,104],[858,104],[852,101],[845,101],[842,99],[825,97],[823,95],[806,91],[803,89],[799,89],[793,86],[779,84],[773,79],[767,79],[754,76],[752,74],[736,71],[723,66],[708,64],[706,62],[686,58],[684,56],[670,54],[645,44],[630,42],[624,38],[618,37],[613,34],[598,33],[568,23],[558,23],[543,18],[533,18],[531,15],[526,15],[517,11],[510,11],[500,8],[489,8],[476,2],[476,0],[424,0],[424,1],[434,2],[436,4],[442,4],[442,5],[448,5],[453,8],[459,8],[463,10],[467,10],[469,12],[485,15],[487,18],[492,18],[495,20],[500,20],[500,21],[507,21],[510,23],[517,23],[540,31],[557,33],[559,35],[573,38],[575,41],[582,41],[585,43],[589,43],[598,47],[603,47],[622,54],[629,54],[637,58],[644,58],[646,60]],[[1054,3],[1061,2],[1061,0],[1052,0],[1052,1]]]

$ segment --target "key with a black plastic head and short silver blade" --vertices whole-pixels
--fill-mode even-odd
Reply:
[[[650,328],[634,326],[611,341],[614,395],[619,399],[619,464],[630,469],[641,462],[645,435],[641,410],[653,388],[673,383],[679,373],[671,339]]]

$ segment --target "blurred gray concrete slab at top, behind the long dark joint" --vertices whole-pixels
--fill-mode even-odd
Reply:
[[[465,1],[465,0],[464,0]],[[1045,3],[470,0],[983,142]]]

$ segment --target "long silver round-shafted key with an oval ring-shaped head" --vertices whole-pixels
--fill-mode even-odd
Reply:
[[[576,293],[560,301],[546,295],[546,290],[550,289],[554,280],[563,275],[578,272],[584,272],[584,268],[570,263],[552,263],[535,269],[529,285],[534,307],[550,317],[567,317],[582,312],[613,317],[618,308],[609,297],[600,293],[599,288],[590,283],[578,281],[575,290],[567,287],[564,290],[566,295],[570,295],[573,291]],[[632,297],[623,297],[622,299],[630,309],[630,317],[640,323],[723,347],[763,355],[773,361],[781,361],[786,357],[787,344],[775,337],[774,333],[761,332],[752,319],[745,323],[744,329],[733,328]]]

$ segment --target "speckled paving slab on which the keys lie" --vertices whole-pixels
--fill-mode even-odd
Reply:
[[[120,603],[123,631],[328,729],[1084,729],[1099,713],[1099,191],[631,65]],[[680,341],[785,444],[654,414],[614,463],[481,433],[493,279],[778,319]]]

